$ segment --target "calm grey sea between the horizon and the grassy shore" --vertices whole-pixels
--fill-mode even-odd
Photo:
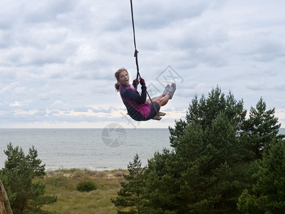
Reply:
[[[285,128],[279,133],[285,134]],[[46,170],[84,168],[89,170],[127,169],[138,154],[142,167],[155,153],[170,146],[167,128],[23,128],[0,129],[0,168],[8,143],[24,153],[34,146]]]

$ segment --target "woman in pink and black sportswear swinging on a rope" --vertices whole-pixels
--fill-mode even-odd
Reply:
[[[120,91],[120,97],[127,108],[128,114],[135,121],[148,121],[154,118],[160,106],[165,106],[166,103],[172,98],[176,90],[175,83],[171,86],[167,85],[162,95],[155,98],[147,99],[147,87],[145,86],[145,80],[136,78],[133,84],[130,85],[129,74],[125,68],[120,68],[115,72],[115,90]],[[142,91],[137,91],[138,84],[142,86]]]

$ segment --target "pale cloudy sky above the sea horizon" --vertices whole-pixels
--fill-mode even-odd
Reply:
[[[1,1],[0,128],[167,128],[216,86],[247,110],[264,98],[285,128],[284,8],[284,0],[133,0],[148,90],[177,83],[167,115],[138,123],[114,88],[118,68],[135,78],[130,1]]]

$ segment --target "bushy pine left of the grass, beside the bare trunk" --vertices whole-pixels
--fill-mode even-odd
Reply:
[[[22,148],[13,148],[9,143],[4,153],[7,160],[0,171],[0,178],[8,189],[13,213],[43,213],[41,207],[56,202],[56,196],[44,195],[44,183],[33,180],[36,176],[45,174],[45,165],[41,165],[41,160],[37,158],[38,152],[32,147],[25,156]]]

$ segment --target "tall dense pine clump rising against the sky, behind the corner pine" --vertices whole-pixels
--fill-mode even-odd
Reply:
[[[185,120],[169,128],[172,151],[148,161],[141,181],[143,213],[239,213],[244,204],[257,203],[254,197],[260,195],[254,194],[264,191],[257,185],[261,158],[284,136],[278,134],[274,108],[266,110],[262,98],[249,118],[243,105],[219,87],[207,98],[192,99]]]

